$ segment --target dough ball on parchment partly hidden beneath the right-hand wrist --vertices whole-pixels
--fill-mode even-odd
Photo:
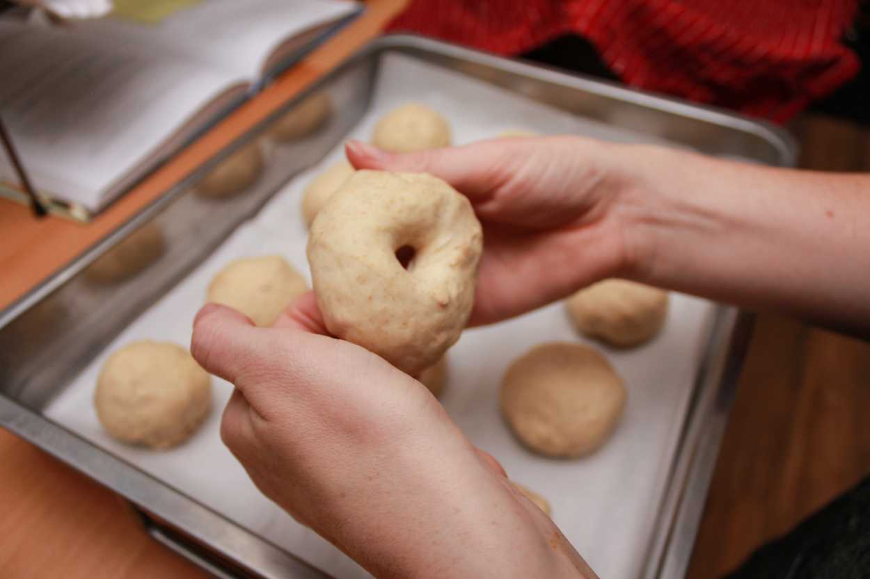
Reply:
[[[566,308],[581,333],[627,348],[659,333],[667,317],[667,292],[607,279],[580,289],[566,300]]]

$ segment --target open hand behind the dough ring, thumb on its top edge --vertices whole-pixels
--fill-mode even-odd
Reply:
[[[358,169],[426,172],[468,196],[484,226],[471,325],[550,303],[629,269],[630,210],[614,145],[574,136],[494,139],[394,154],[351,141]]]

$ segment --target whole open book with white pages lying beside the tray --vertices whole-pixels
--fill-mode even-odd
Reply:
[[[359,10],[204,0],[151,25],[0,20],[0,118],[41,195],[95,213]],[[0,150],[3,190],[21,195]]]

